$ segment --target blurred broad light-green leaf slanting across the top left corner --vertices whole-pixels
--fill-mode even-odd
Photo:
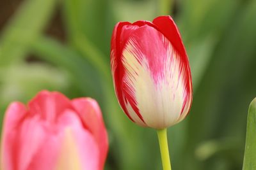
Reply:
[[[5,27],[0,39],[0,66],[26,55],[41,34],[57,0],[27,0]]]

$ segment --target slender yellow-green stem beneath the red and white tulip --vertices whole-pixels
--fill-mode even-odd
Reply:
[[[160,146],[163,170],[172,170],[169,149],[168,149],[167,130],[166,129],[157,130],[157,136],[158,136],[158,141]]]

